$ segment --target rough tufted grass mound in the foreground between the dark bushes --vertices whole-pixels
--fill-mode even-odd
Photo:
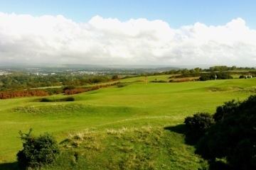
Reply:
[[[61,143],[46,169],[202,169],[207,163],[176,132],[153,128],[84,130]],[[65,160],[65,161],[63,161]]]

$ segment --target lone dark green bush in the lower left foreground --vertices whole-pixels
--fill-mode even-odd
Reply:
[[[43,164],[51,164],[60,153],[55,137],[47,132],[39,137],[19,131],[23,140],[23,149],[18,151],[17,160],[22,167],[41,167]]]

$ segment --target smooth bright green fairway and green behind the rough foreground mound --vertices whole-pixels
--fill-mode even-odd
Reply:
[[[243,100],[250,94],[255,94],[256,79],[191,81],[174,84],[149,83],[155,79],[167,80],[168,77],[147,77],[147,84],[139,82],[122,88],[112,86],[77,94],[74,95],[76,98],[74,102],[38,103],[33,102],[33,98],[1,100],[0,163],[15,161],[16,152],[21,149],[18,130],[26,132],[29,128],[33,128],[36,135],[53,132],[58,141],[62,141],[70,132],[75,133],[87,128],[96,128],[95,133],[102,133],[106,129],[118,130],[125,127],[131,130],[154,127],[156,132],[159,131],[164,133],[165,137],[169,137],[174,135],[174,132],[164,131],[164,127],[183,123],[183,118],[187,115],[196,112],[213,113],[216,106],[222,105],[224,101],[233,98]],[[143,79],[139,77],[121,81]],[[107,143],[111,140],[102,138],[101,141]],[[186,148],[186,145],[182,144],[182,137],[178,141],[181,144],[176,146]],[[188,150],[191,150],[189,153],[193,155],[193,148],[188,147]],[[176,159],[181,158],[177,156]],[[158,161],[155,164],[160,163]]]

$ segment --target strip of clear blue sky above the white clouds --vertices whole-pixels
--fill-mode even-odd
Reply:
[[[93,16],[160,19],[172,28],[196,22],[218,26],[234,18],[243,18],[247,26],[256,28],[254,0],[8,0],[0,1],[4,13],[32,16],[63,15],[75,22],[87,22]]]

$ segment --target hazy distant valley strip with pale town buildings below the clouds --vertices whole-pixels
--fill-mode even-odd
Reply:
[[[164,72],[171,69],[181,69],[181,67],[157,67],[157,66],[97,66],[88,64],[67,64],[62,67],[34,67],[26,65],[0,65],[0,76],[14,72],[23,72],[37,76],[48,76],[55,74],[70,75],[88,75],[88,76],[104,76],[104,75],[137,75],[149,72]]]

